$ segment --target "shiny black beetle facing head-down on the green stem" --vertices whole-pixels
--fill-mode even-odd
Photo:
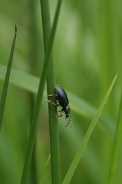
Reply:
[[[51,100],[47,100],[48,103],[51,103],[57,107],[58,106],[62,107],[62,109],[58,111],[58,112],[60,112],[60,114],[57,114],[56,118],[63,116],[63,112],[64,112],[66,115],[66,118],[69,118],[69,121],[67,123],[67,125],[68,125],[71,122],[71,116],[70,116],[69,100],[68,100],[67,93],[65,92],[65,90],[61,86],[57,85],[55,87],[55,94],[48,95],[48,96],[55,97],[57,100],[56,103],[52,102]]]

